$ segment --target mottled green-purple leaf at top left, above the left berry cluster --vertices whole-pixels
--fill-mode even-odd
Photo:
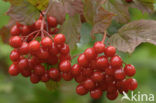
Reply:
[[[23,0],[18,5],[12,5],[7,14],[21,24],[30,25],[39,18],[40,12],[32,4]]]

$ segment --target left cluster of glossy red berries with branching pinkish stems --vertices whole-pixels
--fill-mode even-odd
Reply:
[[[54,17],[49,16],[47,21],[49,30],[56,28]],[[53,33],[42,31],[42,23],[44,22],[40,17],[31,26],[17,23],[11,28],[12,37],[9,42],[14,50],[10,53],[13,64],[9,67],[9,74],[17,76],[21,73],[24,77],[30,77],[32,83],[59,81],[61,77],[65,80],[72,79],[70,49],[65,44],[65,36],[56,34],[53,38]],[[43,28],[46,29],[46,25]],[[50,37],[44,33],[48,33]],[[36,38],[39,40],[35,40]]]

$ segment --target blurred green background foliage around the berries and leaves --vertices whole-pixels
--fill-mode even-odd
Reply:
[[[5,12],[9,8],[9,4],[0,0],[0,28],[8,23],[9,17]],[[138,9],[130,9],[131,21],[140,19],[155,19],[156,13],[152,15],[142,14]],[[122,25],[112,22],[109,33],[117,32]],[[153,27],[156,28],[156,27]],[[81,29],[81,39],[79,47],[72,51],[72,54],[83,52],[84,49],[91,47],[96,40],[101,40],[101,36],[97,34],[96,40],[91,40],[89,33],[91,26],[83,24]],[[78,96],[75,92],[76,82],[61,81],[60,86],[54,90],[48,90],[44,83],[32,84],[29,78],[22,76],[10,77],[7,73],[8,66],[11,64],[9,53],[12,50],[9,45],[4,44],[0,39],[0,103],[120,103],[121,95],[115,101],[109,101],[105,94],[100,100],[93,100],[89,94],[86,96]],[[131,55],[119,52],[126,63],[136,66],[137,73],[135,78],[138,81],[136,93],[154,94],[156,95],[156,46],[148,43],[138,46]],[[73,63],[76,62],[76,59]],[[123,101],[122,103],[129,103]],[[131,102],[132,103],[132,102]],[[135,102],[134,102],[135,103]],[[139,102],[137,102],[139,103]],[[142,103],[142,102],[140,102]],[[146,102],[148,103],[148,102]],[[156,103],[156,102],[153,102]]]

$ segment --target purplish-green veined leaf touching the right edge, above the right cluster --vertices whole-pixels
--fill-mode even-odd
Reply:
[[[119,51],[132,53],[141,43],[156,45],[156,21],[138,20],[124,25],[110,37],[109,43]]]

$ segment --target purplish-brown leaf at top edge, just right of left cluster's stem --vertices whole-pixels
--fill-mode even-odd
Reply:
[[[74,16],[83,13],[81,0],[53,0],[48,14],[54,16],[59,24],[65,21],[66,14]]]

